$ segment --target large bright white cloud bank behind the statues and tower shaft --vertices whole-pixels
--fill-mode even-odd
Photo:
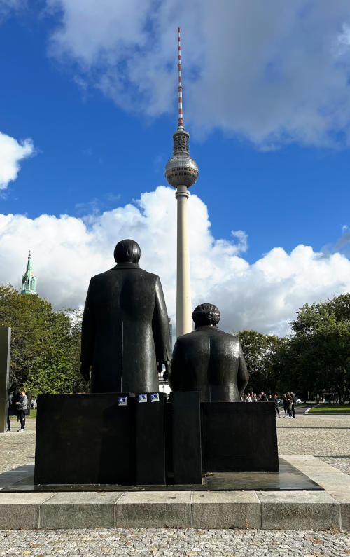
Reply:
[[[190,195],[188,208],[193,308],[218,305],[222,329],[283,335],[304,303],[350,291],[350,261],[344,254],[325,256],[304,245],[288,254],[276,247],[250,264],[241,256],[244,231],[231,240],[216,239],[204,202]],[[123,238],[137,240],[141,266],[160,275],[175,323],[176,201],[174,190],[164,186],[143,193],[134,205],[82,219],[0,215],[0,282],[20,287],[30,248],[38,294],[56,308],[83,305],[90,277],[114,265],[113,249]]]

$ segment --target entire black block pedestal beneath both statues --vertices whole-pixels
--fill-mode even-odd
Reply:
[[[166,409],[167,407],[167,409]],[[204,472],[276,472],[274,404],[198,392],[40,395],[36,484],[200,485]]]

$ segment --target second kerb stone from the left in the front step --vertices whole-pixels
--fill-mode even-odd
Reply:
[[[56,493],[41,505],[40,528],[113,528],[121,493]]]

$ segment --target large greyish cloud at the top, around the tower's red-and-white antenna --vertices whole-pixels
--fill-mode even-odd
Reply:
[[[181,25],[185,119],[197,135],[221,128],[265,149],[350,142],[348,0],[46,3],[59,20],[50,53],[123,109],[175,111]]]

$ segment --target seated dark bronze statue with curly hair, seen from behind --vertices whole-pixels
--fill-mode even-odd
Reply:
[[[202,402],[239,402],[249,373],[237,336],[217,328],[220,312],[202,303],[192,314],[195,331],[177,339],[169,385],[173,391],[200,391]]]

